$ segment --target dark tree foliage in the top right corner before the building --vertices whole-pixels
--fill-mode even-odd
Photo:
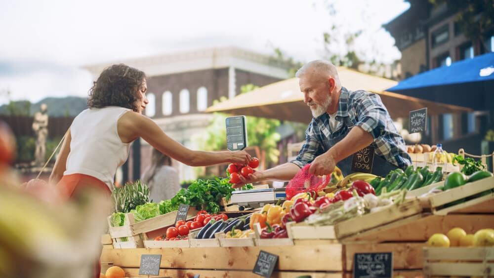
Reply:
[[[484,49],[490,49],[486,39],[494,33],[494,2],[493,0],[429,0],[438,6],[446,4],[458,10],[455,17],[459,30],[474,43],[480,42]]]

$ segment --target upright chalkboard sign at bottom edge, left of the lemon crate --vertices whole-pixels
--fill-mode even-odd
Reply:
[[[392,278],[393,253],[355,253],[354,278]]]

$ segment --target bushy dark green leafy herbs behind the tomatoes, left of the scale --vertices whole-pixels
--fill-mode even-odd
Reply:
[[[178,207],[182,203],[195,206],[197,209],[205,209],[208,212],[217,213],[220,209],[219,202],[221,199],[225,198],[228,201],[232,197],[234,189],[228,183],[228,180],[228,178],[215,178],[194,181],[188,189],[181,189],[171,199],[171,204],[169,205]],[[250,185],[251,187],[252,185]]]

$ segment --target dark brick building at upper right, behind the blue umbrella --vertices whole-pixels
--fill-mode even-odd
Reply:
[[[460,31],[456,7],[448,6],[446,2],[433,5],[428,0],[408,1],[410,8],[383,26],[402,53],[401,79],[494,51],[494,32],[485,41],[474,42]],[[426,141],[448,142],[472,136],[479,132],[479,117],[483,117],[483,113],[430,117],[431,131],[426,135]]]

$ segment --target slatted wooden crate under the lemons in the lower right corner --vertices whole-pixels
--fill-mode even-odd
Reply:
[[[430,276],[494,276],[493,247],[424,247],[423,272]]]

